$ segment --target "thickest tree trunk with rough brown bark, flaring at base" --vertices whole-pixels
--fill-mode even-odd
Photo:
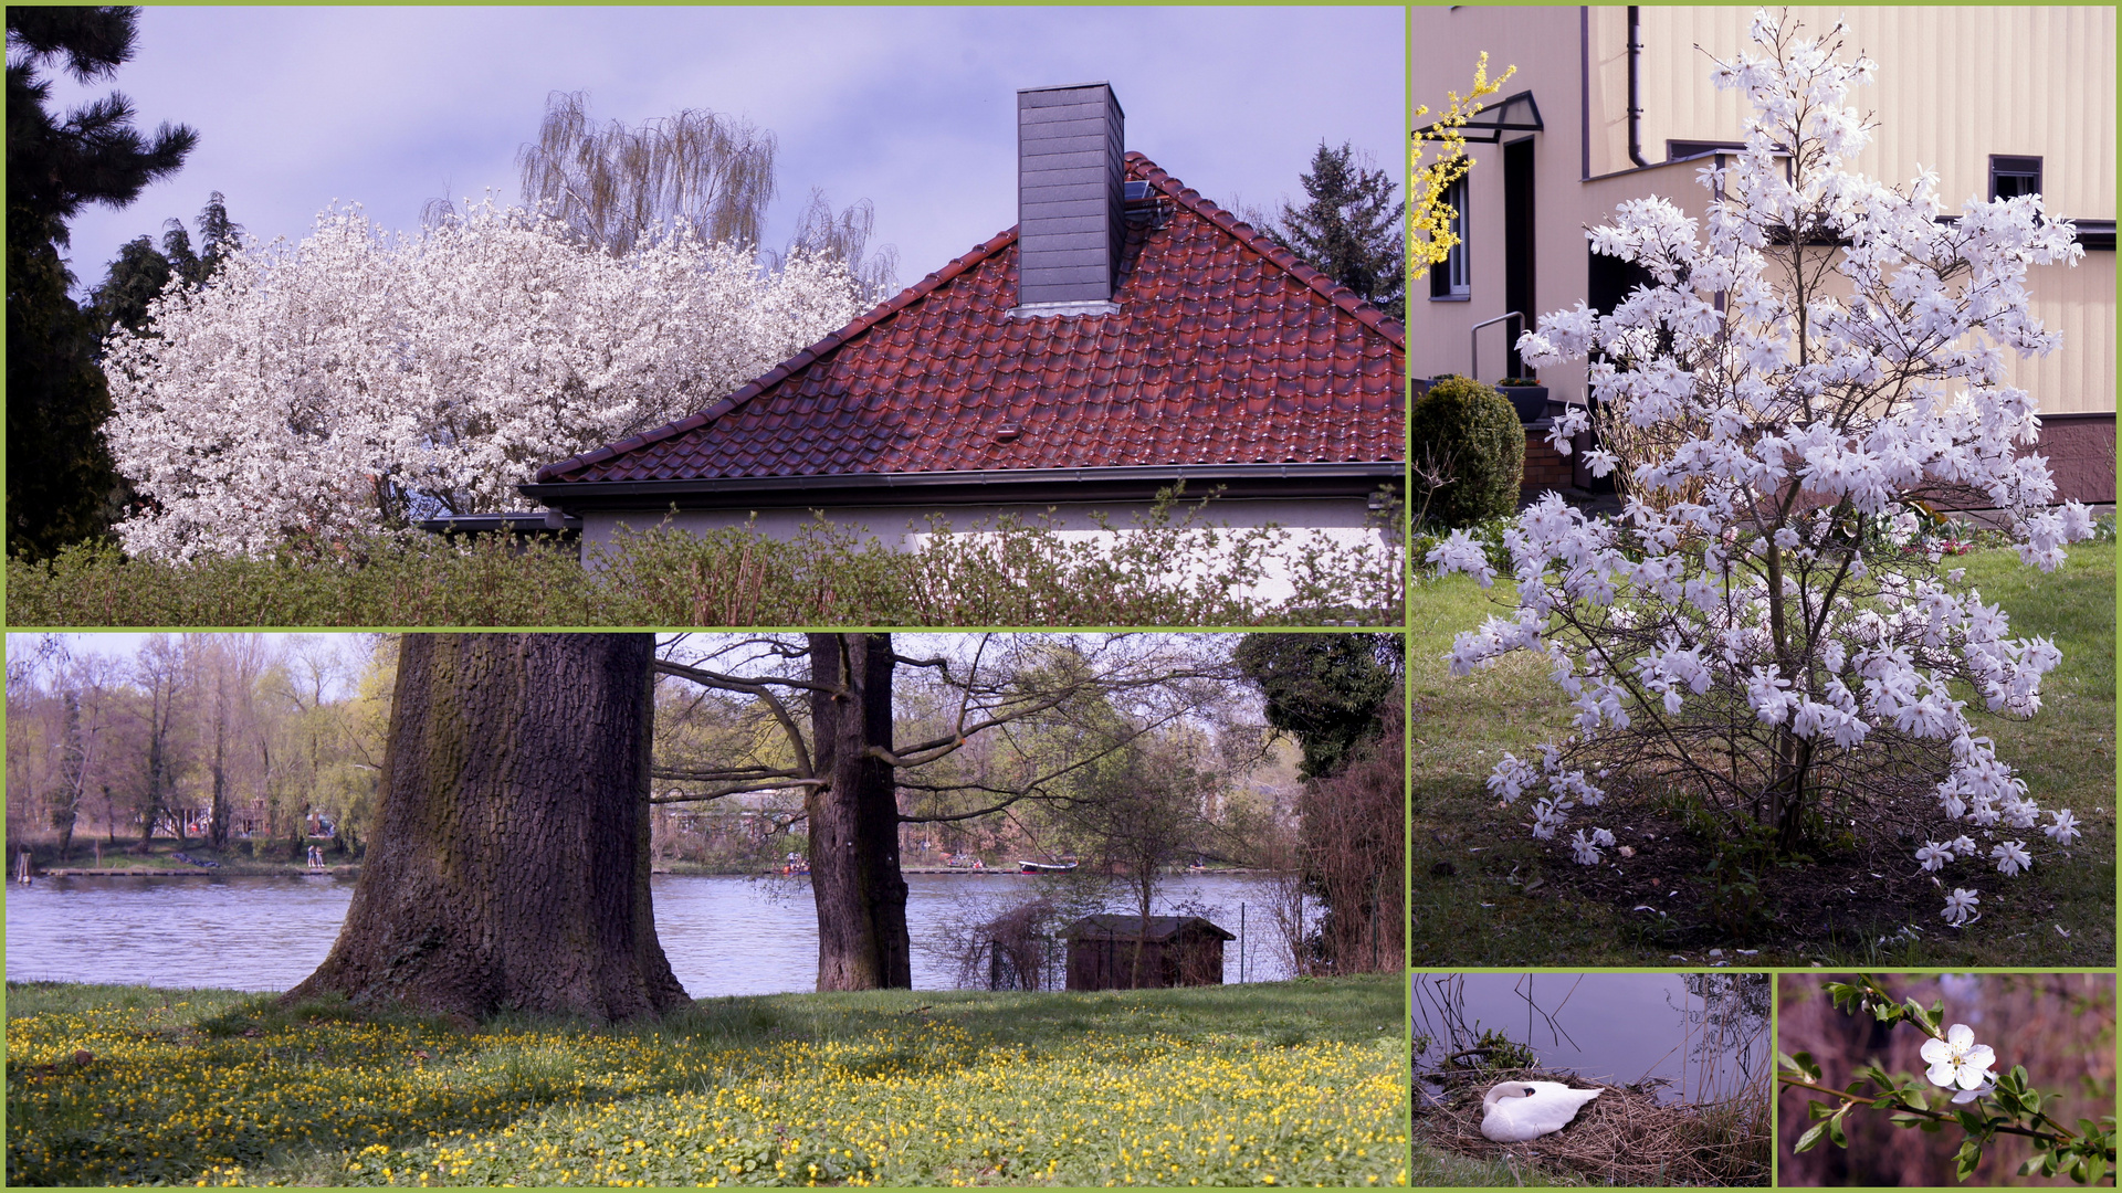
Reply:
[[[293,1002],[688,1004],[649,906],[654,635],[405,635],[346,928]]]

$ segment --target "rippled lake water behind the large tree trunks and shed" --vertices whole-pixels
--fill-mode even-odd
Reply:
[[[985,915],[1046,879],[906,875],[915,987],[946,989],[955,968],[923,947],[940,923]],[[694,998],[817,985],[817,919],[802,879],[654,879],[656,934]],[[38,879],[6,887],[6,976],[159,987],[286,989],[325,959],[354,879]],[[1205,915],[1224,943],[1224,981],[1280,981],[1288,957],[1267,915],[1269,879],[1169,879],[1159,913]],[[1112,906],[1110,911],[1125,911]],[[1243,949],[1241,949],[1243,945]]]

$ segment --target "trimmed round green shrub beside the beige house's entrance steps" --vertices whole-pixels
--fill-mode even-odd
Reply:
[[[1415,399],[1409,422],[1417,473],[1449,478],[1430,495],[1426,522],[1473,526],[1517,514],[1526,427],[1507,397],[1477,380],[1441,378]],[[1422,507],[1420,492],[1411,505]]]

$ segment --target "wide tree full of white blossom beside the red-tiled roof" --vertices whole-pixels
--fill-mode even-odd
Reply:
[[[272,554],[520,505],[539,465],[681,418],[849,323],[840,261],[688,229],[626,255],[490,200],[416,236],[327,210],[104,359],[129,554]]]

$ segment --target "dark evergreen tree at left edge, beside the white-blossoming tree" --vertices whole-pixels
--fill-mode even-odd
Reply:
[[[57,64],[89,83],[134,53],[134,8],[6,11],[6,454],[8,552],[45,556],[102,533],[119,476],[102,442],[110,395],[95,367],[95,321],[68,295],[59,250],[85,204],[129,204],[185,163],[197,134],[134,127],[125,96],[47,110]]]

